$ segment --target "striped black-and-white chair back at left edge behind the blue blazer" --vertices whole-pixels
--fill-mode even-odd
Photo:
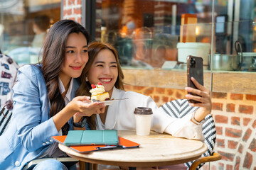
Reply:
[[[6,131],[11,120],[11,115],[12,112],[6,107],[0,107],[0,136]]]

